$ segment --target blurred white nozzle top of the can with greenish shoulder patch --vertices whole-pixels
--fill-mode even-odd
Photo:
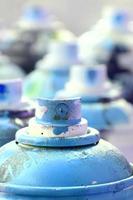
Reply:
[[[78,64],[78,47],[75,40],[53,41],[49,47],[49,53],[38,62],[40,69],[68,69],[74,64]]]

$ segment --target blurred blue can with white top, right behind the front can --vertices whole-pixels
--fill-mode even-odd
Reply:
[[[120,87],[107,79],[104,65],[73,66],[64,90],[56,96],[81,96],[82,115],[98,130],[130,121],[132,106],[123,99]]]

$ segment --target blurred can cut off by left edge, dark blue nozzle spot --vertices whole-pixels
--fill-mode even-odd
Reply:
[[[20,80],[0,82],[0,146],[15,139],[15,133],[27,126],[34,116],[34,108],[21,101]]]

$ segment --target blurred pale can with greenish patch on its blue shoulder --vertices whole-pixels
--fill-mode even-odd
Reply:
[[[53,42],[49,54],[38,62],[36,70],[25,80],[25,95],[53,98],[57,91],[63,89],[69,79],[70,67],[77,62],[77,46],[74,41]]]

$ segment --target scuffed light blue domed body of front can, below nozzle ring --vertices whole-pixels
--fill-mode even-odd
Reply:
[[[26,147],[13,141],[0,150],[0,175],[0,182],[4,181],[0,197],[5,200],[133,197],[131,166],[103,140],[93,146],[62,149]]]

